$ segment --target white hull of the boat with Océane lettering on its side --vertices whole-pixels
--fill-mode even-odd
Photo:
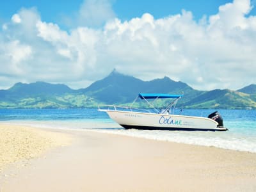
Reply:
[[[218,127],[218,122],[205,117],[117,110],[104,111],[125,129],[227,131],[225,127]]]

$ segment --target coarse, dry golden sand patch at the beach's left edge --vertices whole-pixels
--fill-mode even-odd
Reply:
[[[51,148],[68,145],[70,136],[18,125],[0,124],[0,173],[4,167],[41,156]]]

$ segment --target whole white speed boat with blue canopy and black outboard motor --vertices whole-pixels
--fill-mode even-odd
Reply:
[[[108,105],[99,107],[99,111],[108,113],[110,118],[125,129],[227,131],[227,128],[223,126],[223,118],[218,111],[211,113],[208,117],[175,115],[175,105],[183,96],[163,93],[139,93],[136,100],[129,107]],[[133,108],[132,106],[138,99],[145,100],[148,108]],[[151,102],[152,99],[153,102]],[[171,101],[167,102],[166,108],[160,110],[153,105],[157,99],[171,99]]]

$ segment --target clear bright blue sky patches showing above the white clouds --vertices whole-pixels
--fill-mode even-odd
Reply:
[[[63,28],[67,28],[63,23],[63,15],[73,17],[74,13],[79,10],[83,0],[72,1],[35,1],[35,0],[9,0],[4,2],[0,7],[0,18],[4,22],[9,20],[13,14],[17,13],[20,8],[36,7],[40,13],[42,20],[46,22],[58,23]],[[191,11],[195,20],[201,19],[204,15],[214,15],[218,13],[220,5],[232,3],[232,0],[111,0],[109,1],[113,7],[113,11],[121,20],[130,20],[134,17],[141,17],[143,13],[150,13],[155,19],[175,15],[181,10]],[[256,1],[252,1],[254,4]],[[255,15],[255,8],[249,15]],[[68,28],[67,28],[68,29]]]

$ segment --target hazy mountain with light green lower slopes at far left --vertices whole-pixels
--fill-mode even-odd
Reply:
[[[95,106],[86,95],[77,95],[65,84],[45,82],[16,83],[8,90],[0,90],[0,108],[81,108]]]

